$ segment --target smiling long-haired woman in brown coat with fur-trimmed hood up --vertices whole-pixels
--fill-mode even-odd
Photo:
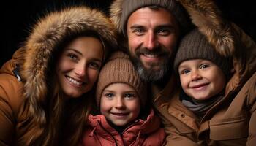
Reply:
[[[0,70],[0,145],[78,144],[99,69],[117,46],[113,30],[89,7],[38,20]]]

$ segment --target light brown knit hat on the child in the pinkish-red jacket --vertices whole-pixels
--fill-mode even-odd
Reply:
[[[102,92],[108,85],[113,83],[126,83],[135,88],[140,97],[142,107],[145,107],[147,100],[146,82],[140,80],[129,56],[121,51],[113,53],[108,62],[102,67],[99,73],[99,80],[96,89],[96,102],[99,107]]]

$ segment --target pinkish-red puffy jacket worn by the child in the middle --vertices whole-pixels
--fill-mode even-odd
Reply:
[[[89,127],[83,136],[83,145],[163,145],[165,131],[159,128],[160,120],[151,110],[146,120],[138,119],[122,134],[112,128],[104,115],[89,115]]]

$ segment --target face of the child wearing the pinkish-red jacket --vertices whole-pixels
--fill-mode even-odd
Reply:
[[[140,99],[135,89],[124,83],[109,85],[102,93],[100,112],[116,126],[125,126],[140,113]]]

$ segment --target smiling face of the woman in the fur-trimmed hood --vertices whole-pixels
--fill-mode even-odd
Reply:
[[[91,90],[102,66],[103,49],[94,37],[78,37],[64,48],[56,73],[67,97],[77,98]]]

